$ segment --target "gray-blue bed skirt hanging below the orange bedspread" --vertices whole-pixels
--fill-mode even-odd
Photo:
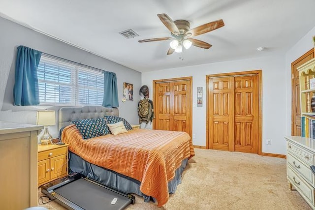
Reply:
[[[139,196],[143,196],[145,202],[156,201],[155,198],[144,195],[140,191],[140,181],[89,163],[71,151],[69,151],[69,156],[70,172],[78,172],[88,178],[99,181],[123,192],[135,193]],[[170,194],[175,193],[177,185],[182,182],[182,174],[187,164],[188,158],[182,161],[182,165],[176,170],[174,179],[168,182],[168,192]]]

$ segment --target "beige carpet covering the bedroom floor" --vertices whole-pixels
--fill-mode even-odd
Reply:
[[[128,210],[311,210],[290,191],[283,158],[195,149],[182,183],[163,208],[136,196]],[[40,192],[38,195],[42,195]],[[63,210],[55,202],[44,205]]]

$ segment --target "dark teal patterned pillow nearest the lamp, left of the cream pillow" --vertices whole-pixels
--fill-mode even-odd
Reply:
[[[80,131],[83,139],[109,134],[109,128],[103,118],[72,121]]]

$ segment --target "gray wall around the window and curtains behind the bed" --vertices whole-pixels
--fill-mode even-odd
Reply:
[[[69,26],[70,27],[70,26]],[[73,34],[75,35],[75,34]],[[92,37],[91,37],[92,38]],[[104,37],[106,38],[106,37]],[[54,109],[58,117],[60,107],[47,106],[13,106],[13,85],[16,60],[16,48],[24,45],[44,53],[64,59],[80,62],[106,71],[115,72],[118,82],[119,115],[130,123],[138,123],[137,106],[141,87],[141,73],[110,60],[95,56],[89,52],[68,45],[64,42],[28,29],[0,17],[0,120],[35,124],[36,110]],[[105,47],[105,46],[104,46]],[[111,50],[111,49],[106,49]],[[133,84],[133,101],[123,103],[123,83]],[[49,128],[50,133],[56,136],[57,126]]]

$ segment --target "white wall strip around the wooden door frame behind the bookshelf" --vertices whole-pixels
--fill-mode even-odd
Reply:
[[[285,54],[285,81],[286,81],[286,135],[291,135],[291,63],[300,58],[303,54],[314,48],[313,36],[315,27],[303,36]]]

